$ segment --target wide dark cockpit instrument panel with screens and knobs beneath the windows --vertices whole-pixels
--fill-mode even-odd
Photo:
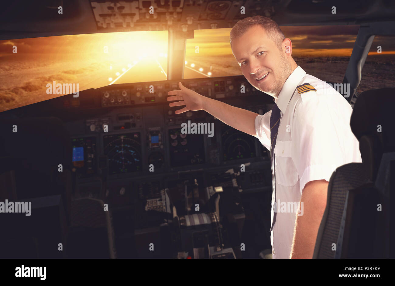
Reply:
[[[257,114],[273,107],[271,98],[243,76],[182,81],[201,95]],[[138,177],[269,160],[257,138],[203,110],[175,114],[180,107],[169,107],[166,97],[168,91],[178,89],[178,82],[113,84],[80,92],[79,103],[74,105],[62,104],[70,100],[68,95],[55,99],[65,112],[81,114],[65,123],[78,178]],[[182,128],[183,123],[188,128]]]

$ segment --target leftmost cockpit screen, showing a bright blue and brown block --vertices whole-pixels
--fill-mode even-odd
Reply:
[[[86,178],[96,174],[96,137],[73,138],[73,172],[77,178]]]

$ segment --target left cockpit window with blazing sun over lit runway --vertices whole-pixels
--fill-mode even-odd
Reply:
[[[167,31],[0,41],[0,112],[114,83],[166,80]]]

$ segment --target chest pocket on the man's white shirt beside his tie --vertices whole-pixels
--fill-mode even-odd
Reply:
[[[292,141],[276,141],[274,148],[276,161],[276,182],[292,187],[297,182],[297,169],[291,158]]]

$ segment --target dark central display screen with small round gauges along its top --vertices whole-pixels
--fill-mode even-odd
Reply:
[[[169,129],[170,165],[180,167],[205,163],[203,134],[182,134]]]

